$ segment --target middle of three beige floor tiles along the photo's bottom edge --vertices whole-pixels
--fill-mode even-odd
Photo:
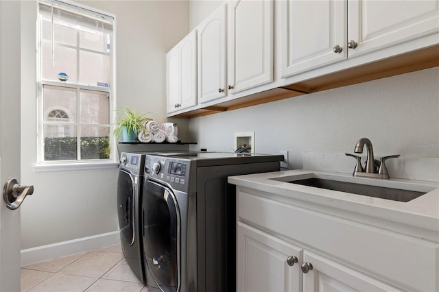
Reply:
[[[96,278],[56,273],[47,280],[40,282],[29,292],[82,292],[96,282]]]

